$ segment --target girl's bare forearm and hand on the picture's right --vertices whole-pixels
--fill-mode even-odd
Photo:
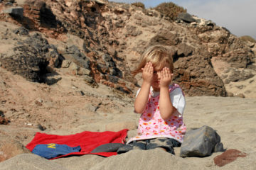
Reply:
[[[161,118],[164,120],[170,118],[176,111],[169,95],[169,84],[172,81],[172,75],[169,68],[164,67],[161,71],[159,109]]]

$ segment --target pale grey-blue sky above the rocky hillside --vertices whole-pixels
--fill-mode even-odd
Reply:
[[[115,2],[142,2],[146,8],[170,0],[109,0]],[[238,37],[250,35],[256,40],[256,0],[172,0],[187,12],[205,18],[230,30]]]

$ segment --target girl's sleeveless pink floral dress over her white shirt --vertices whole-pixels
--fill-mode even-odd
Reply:
[[[180,88],[178,84],[169,86],[169,93]],[[183,95],[183,93],[182,93]],[[186,132],[186,125],[183,123],[183,117],[176,111],[167,120],[161,118],[159,111],[160,96],[153,97],[149,94],[144,113],[139,118],[138,135],[130,139],[127,143],[133,140],[147,140],[156,137],[168,137],[183,142],[183,136]]]

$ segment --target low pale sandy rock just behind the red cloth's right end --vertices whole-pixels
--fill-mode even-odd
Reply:
[[[137,128],[137,123],[135,121],[124,121],[124,122],[107,124],[105,127],[105,130],[118,132],[119,130],[123,130],[123,129],[134,130],[136,128]]]

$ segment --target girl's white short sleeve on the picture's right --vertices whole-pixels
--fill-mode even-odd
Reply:
[[[174,91],[171,91],[170,98],[174,108],[177,109],[178,113],[183,115],[183,111],[186,106],[186,101],[185,97],[182,94],[182,90],[180,88],[177,88]]]

